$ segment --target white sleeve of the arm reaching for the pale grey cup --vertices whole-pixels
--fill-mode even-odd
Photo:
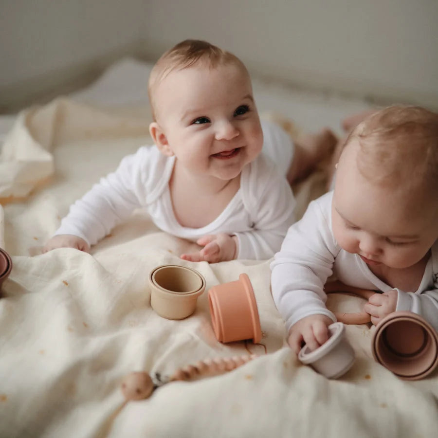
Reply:
[[[312,201],[303,218],[293,224],[271,263],[272,294],[289,330],[300,319],[323,314],[336,321],[325,302],[324,285],[332,274],[339,247],[334,240],[320,201],[329,202],[330,193]]]

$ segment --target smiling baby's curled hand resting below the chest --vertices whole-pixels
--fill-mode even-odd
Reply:
[[[225,233],[209,234],[199,238],[196,243],[203,246],[201,251],[192,254],[182,254],[183,260],[207,261],[218,263],[220,261],[234,260],[237,255],[237,237]]]

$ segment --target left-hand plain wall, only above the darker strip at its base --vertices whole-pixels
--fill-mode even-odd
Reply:
[[[143,0],[0,4],[1,85],[89,61],[143,37]]]

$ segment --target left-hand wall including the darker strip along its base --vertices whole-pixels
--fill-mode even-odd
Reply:
[[[0,0],[0,111],[135,52],[146,3]]]

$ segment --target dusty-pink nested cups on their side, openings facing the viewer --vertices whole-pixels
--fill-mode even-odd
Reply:
[[[422,379],[438,365],[438,333],[416,313],[390,313],[371,342],[374,359],[404,380]]]

